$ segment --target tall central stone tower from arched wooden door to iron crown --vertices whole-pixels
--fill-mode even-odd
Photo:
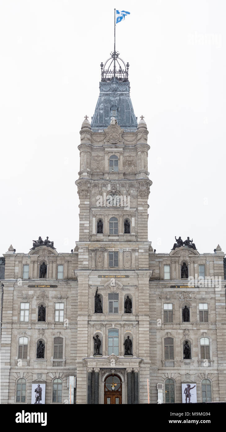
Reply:
[[[113,60],[116,67],[111,70]],[[143,116],[137,123],[133,111],[129,63],[113,52],[100,67],[100,96],[91,124],[87,116],[82,123],[75,182],[80,200],[76,399],[147,403],[152,273],[148,130]],[[128,339],[132,354],[126,349]],[[108,393],[111,376],[119,381],[118,397]]]

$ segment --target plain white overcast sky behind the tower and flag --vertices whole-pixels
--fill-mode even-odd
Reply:
[[[135,115],[148,125],[149,241],[174,236],[226,252],[226,4],[219,0],[0,2],[0,255],[38,236],[78,240],[79,130],[99,95],[100,63],[129,61]]]

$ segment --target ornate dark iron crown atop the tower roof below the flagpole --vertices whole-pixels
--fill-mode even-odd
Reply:
[[[118,51],[112,51],[106,62],[104,64],[100,63],[100,67],[101,81],[110,82],[113,77],[116,77],[121,82],[128,81],[129,63],[125,63],[119,57]]]

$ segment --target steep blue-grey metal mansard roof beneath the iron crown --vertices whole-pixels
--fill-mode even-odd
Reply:
[[[91,130],[104,130],[111,118],[116,118],[125,132],[137,130],[131,98],[129,81],[120,82],[115,76],[109,82],[100,82],[100,95],[91,121]]]

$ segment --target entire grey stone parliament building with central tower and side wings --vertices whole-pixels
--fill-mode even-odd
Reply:
[[[40,236],[0,258],[2,403],[225,402],[225,254],[174,233],[171,251],[153,249],[147,124],[129,64],[114,51],[100,66],[75,248]]]

